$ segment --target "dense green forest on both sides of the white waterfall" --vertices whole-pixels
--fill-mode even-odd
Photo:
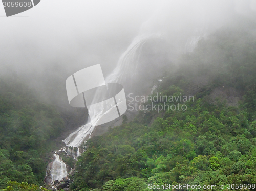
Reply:
[[[165,184],[255,190],[255,35],[221,28],[177,62],[157,82],[154,94],[185,95],[199,76],[206,76],[207,85],[193,95],[194,101],[148,101],[145,105],[179,103],[187,109],[140,111],[132,121],[124,115],[121,126],[89,139],[70,177],[71,190],[165,190],[153,188]],[[241,98],[233,105],[221,94],[212,99],[216,88],[233,88]],[[2,79],[0,189],[45,190],[39,186],[44,187],[47,156],[64,126],[57,109],[38,99],[33,90],[17,79]]]

